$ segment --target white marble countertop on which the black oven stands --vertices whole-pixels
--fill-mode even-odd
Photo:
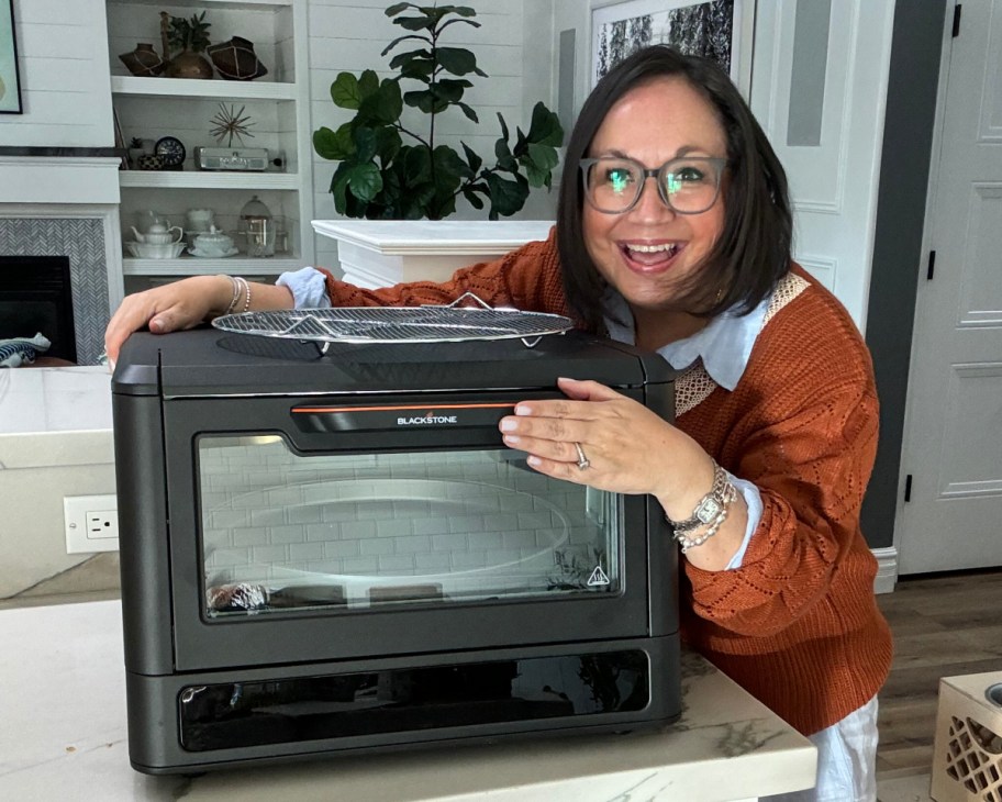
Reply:
[[[129,764],[121,605],[0,611],[0,799],[720,802],[810,787],[811,743],[702,658],[663,732],[338,757],[194,778]]]

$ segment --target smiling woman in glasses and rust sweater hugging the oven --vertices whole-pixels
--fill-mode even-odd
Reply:
[[[873,800],[891,642],[859,508],[877,398],[853,321],[792,264],[791,230],[783,170],[726,75],[653,47],[584,103],[546,242],[443,285],[368,291],[307,268],[252,296],[227,277],[188,279],[127,298],[109,355],[147,324],[469,290],[688,367],[675,425],[566,378],[566,400],[523,402],[501,421],[504,442],[543,474],[657,498],[684,556],[683,637],[819,746],[817,789],[783,799]]]

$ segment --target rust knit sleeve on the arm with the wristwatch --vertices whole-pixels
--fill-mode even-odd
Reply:
[[[754,482],[762,499],[742,567],[686,566],[695,614],[743,635],[777,634],[823,604],[839,572],[845,580],[876,569],[859,532],[878,433],[869,355],[847,319],[823,331],[798,326],[797,318],[779,326],[797,332],[789,347],[767,347],[756,360],[754,370],[769,379],[752,391],[760,399],[739,416],[721,454],[722,465]],[[853,580],[866,583],[862,576]]]

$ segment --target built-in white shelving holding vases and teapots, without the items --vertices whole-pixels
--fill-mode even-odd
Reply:
[[[175,136],[187,151],[183,169],[119,172],[122,243],[134,238],[137,213],[153,210],[185,227],[188,209],[212,209],[219,226],[235,234],[240,211],[253,197],[283,223],[286,250],[271,258],[243,254],[221,259],[122,259],[122,274],[163,279],[231,272],[275,276],[313,261],[313,183],[309,118],[305,0],[105,0],[112,103],[124,144]],[[238,35],[252,41],[268,69],[254,80],[140,77],[119,54],[138,43],[162,51],[160,12],[190,18],[205,12],[213,44]],[[229,111],[248,119],[247,135],[219,141],[216,118]],[[197,147],[266,148],[265,171],[198,169]],[[279,164],[275,164],[274,161]],[[237,246],[243,243],[235,237]],[[154,281],[154,282],[158,282]]]

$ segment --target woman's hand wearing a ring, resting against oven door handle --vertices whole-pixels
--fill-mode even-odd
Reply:
[[[567,399],[522,401],[500,423],[505,445],[526,452],[535,470],[664,501],[701,497],[712,484],[713,466],[700,445],[639,402],[597,381],[557,386]],[[586,468],[578,467],[578,447]]]

